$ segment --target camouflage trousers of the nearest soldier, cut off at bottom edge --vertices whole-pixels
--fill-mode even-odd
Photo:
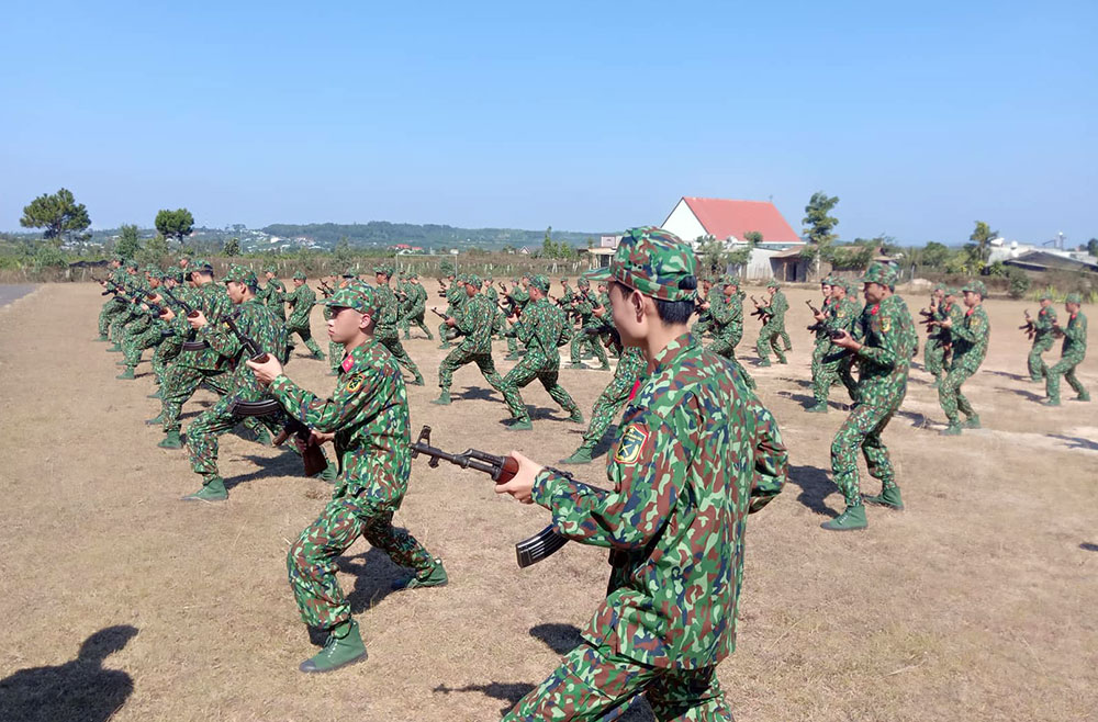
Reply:
[[[549,678],[520,699],[503,721],[616,720],[638,695],[645,696],[661,722],[732,719],[716,667],[650,667],[584,642],[564,655]]]

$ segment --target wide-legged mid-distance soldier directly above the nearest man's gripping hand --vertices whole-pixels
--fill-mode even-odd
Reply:
[[[526,404],[519,394],[528,383],[537,379],[554,402],[569,413],[569,420],[583,424],[583,414],[560,385],[560,350],[564,335],[564,313],[546,297],[549,279],[536,275],[530,281],[529,303],[523,309],[522,319],[515,318],[513,332],[526,346],[526,356],[515,364],[503,379],[503,398],[507,402],[514,419],[508,429],[529,431],[534,428]],[[508,331],[512,332],[512,331]]]

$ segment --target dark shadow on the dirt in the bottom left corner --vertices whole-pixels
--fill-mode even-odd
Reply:
[[[80,645],[77,658],[56,667],[32,667],[0,679],[0,720],[105,722],[134,690],[133,678],[103,661],[137,634],[135,627],[102,629]]]

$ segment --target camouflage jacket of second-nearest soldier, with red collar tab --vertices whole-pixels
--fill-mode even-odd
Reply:
[[[287,376],[270,385],[287,413],[311,429],[335,432],[339,482],[333,498],[365,496],[395,510],[412,471],[408,402],[400,366],[368,340],[344,356],[332,397],[321,399]]]

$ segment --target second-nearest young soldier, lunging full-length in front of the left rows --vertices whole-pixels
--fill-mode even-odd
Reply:
[[[326,302],[332,307],[328,335],[344,345],[339,380],[321,399],[282,375],[271,358],[248,361],[259,383],[310,429],[317,443],[334,441],[339,480],[321,516],[301,532],[287,555],[290,586],[301,619],[328,632],[324,648],[300,666],[302,672],[332,672],[366,659],[366,645],[339,588],[335,560],[359,537],[410,567],[414,575],[397,589],[447,583],[441,560],[410,533],[393,527],[393,515],[407,492],[412,469],[408,403],[404,379],[392,354],[373,339],[381,302],[374,289],[355,284]]]

